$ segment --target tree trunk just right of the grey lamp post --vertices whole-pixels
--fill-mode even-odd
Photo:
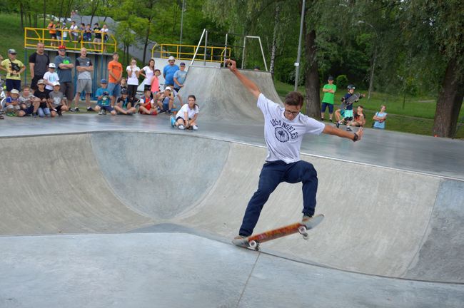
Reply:
[[[303,29],[305,34],[305,88],[306,88],[306,115],[311,118],[321,118],[321,105],[319,103],[319,71],[316,58],[316,30],[308,29],[306,19]]]

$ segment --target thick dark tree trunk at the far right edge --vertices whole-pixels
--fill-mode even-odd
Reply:
[[[453,138],[464,98],[464,81],[456,58],[448,62],[443,84],[438,95],[433,135]]]

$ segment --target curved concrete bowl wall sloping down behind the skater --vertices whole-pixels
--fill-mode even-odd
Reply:
[[[127,131],[2,138],[0,150],[4,239],[181,225],[228,243],[266,157],[262,146]],[[263,244],[263,252],[348,272],[464,282],[462,181],[302,159],[318,170],[316,213],[326,219],[307,242],[293,235]],[[255,231],[301,219],[302,202],[301,185],[281,184]]]

